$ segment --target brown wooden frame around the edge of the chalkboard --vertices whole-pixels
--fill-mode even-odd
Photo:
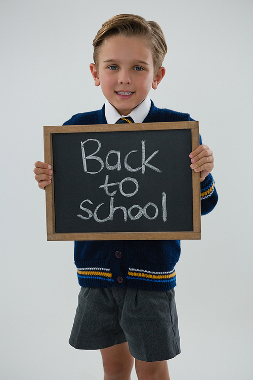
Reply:
[[[163,122],[141,124],[113,124],[113,125],[75,125],[75,126],[46,126],[44,127],[45,162],[52,165],[53,145],[52,135],[55,133],[85,133],[111,131],[146,131],[166,129],[191,129],[192,150],[199,145],[198,122]],[[190,164],[190,162],[189,162]],[[46,187],[47,211],[47,238],[48,240],[167,240],[167,239],[201,239],[200,234],[200,175],[192,171],[192,205],[193,205],[193,231],[182,232],[81,232],[56,233],[55,232],[55,200],[54,176],[52,183]]]

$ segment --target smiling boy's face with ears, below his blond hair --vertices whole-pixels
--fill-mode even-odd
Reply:
[[[120,115],[129,115],[156,89],[165,73],[160,67],[154,74],[150,48],[139,37],[113,36],[100,47],[97,65],[90,69],[95,85]]]

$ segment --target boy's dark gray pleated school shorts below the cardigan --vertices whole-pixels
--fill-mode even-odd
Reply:
[[[180,354],[174,289],[81,288],[69,344],[99,350],[126,341],[146,362]]]

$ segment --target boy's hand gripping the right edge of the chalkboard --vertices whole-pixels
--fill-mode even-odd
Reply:
[[[207,145],[199,145],[190,154],[191,168],[195,172],[200,172],[200,182],[214,169],[213,152]]]

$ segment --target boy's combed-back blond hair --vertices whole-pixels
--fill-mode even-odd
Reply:
[[[158,72],[167,53],[167,44],[160,26],[155,21],[147,21],[141,16],[131,14],[121,14],[110,18],[102,25],[93,40],[95,64],[98,63],[99,48],[103,42],[115,35],[142,38],[151,50],[154,74]]]

